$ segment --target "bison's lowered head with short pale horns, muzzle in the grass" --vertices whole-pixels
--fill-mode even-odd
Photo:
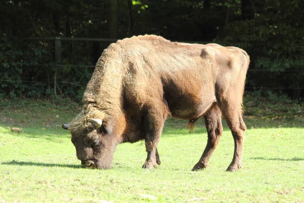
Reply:
[[[63,124],[71,132],[82,167],[111,168],[113,152],[118,144],[111,127],[111,120],[87,118],[80,123]]]

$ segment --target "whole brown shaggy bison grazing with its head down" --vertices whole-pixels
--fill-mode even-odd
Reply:
[[[208,142],[192,169],[198,171],[208,166],[223,116],[235,143],[227,171],[236,171],[242,166],[248,65],[248,54],[237,47],[170,42],[154,35],[119,40],[98,59],[81,113],[62,127],[70,130],[83,167],[111,168],[118,144],[144,140],[142,167],[156,168],[166,117],[186,119],[190,129],[203,117]]]

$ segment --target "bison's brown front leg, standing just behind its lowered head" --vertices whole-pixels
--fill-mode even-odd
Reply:
[[[142,165],[143,168],[156,168],[157,164],[161,164],[160,156],[157,151],[157,145],[160,141],[166,114],[162,114],[159,110],[149,109],[145,117],[145,148],[147,158]]]

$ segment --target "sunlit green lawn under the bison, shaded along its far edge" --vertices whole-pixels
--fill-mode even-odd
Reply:
[[[59,101],[1,104],[0,202],[304,202],[303,109],[294,118],[245,116],[243,167],[230,173],[234,142],[226,125],[211,165],[200,172],[191,169],[207,142],[204,122],[189,134],[187,122],[173,118],[163,131],[156,170],[141,168],[144,142],[119,145],[112,170],[88,170],[60,127],[79,109]]]

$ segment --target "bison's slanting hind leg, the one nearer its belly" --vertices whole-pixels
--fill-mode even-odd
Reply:
[[[223,132],[221,112],[217,105],[214,105],[212,108],[210,108],[204,117],[208,133],[208,141],[202,157],[200,158],[199,162],[193,167],[192,171],[202,170],[209,165],[209,160]]]

